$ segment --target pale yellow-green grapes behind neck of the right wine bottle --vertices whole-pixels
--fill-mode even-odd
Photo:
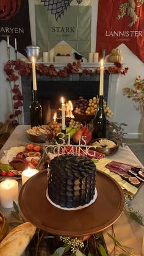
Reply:
[[[95,115],[96,110],[98,108],[99,98],[93,97],[89,100],[88,108],[85,111],[85,114],[88,115]],[[104,106],[104,112],[106,114],[106,117],[112,117],[113,112],[110,110],[110,108],[107,107],[107,103],[105,100],[103,100],[103,106]]]

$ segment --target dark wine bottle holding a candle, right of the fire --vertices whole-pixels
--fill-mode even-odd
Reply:
[[[103,107],[103,95],[99,95],[98,110],[96,111],[95,118],[93,120],[93,139],[100,137],[106,137],[107,120]]]

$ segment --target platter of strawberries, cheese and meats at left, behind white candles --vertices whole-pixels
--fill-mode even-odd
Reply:
[[[44,148],[37,144],[21,144],[7,148],[0,156],[0,180],[7,177],[21,178],[21,172],[28,167],[39,169],[44,156]]]

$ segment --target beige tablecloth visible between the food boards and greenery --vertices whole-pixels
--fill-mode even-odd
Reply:
[[[26,136],[26,130],[29,129],[29,125],[19,125],[16,126],[15,130],[5,142],[4,147],[0,150],[0,155],[2,154],[3,150],[8,149],[12,146],[20,145],[26,142],[29,142],[29,139]],[[113,156],[107,156],[110,159],[115,161],[121,161],[127,164],[133,165],[141,165],[140,161],[135,157],[134,153],[131,152],[129,147],[120,147],[118,152],[115,153]],[[144,186],[142,186],[139,191],[137,192],[134,199],[132,199],[132,205],[134,206],[135,210],[139,210],[140,213],[144,215]],[[8,221],[15,221],[15,219],[11,215],[12,209],[4,209],[0,207],[0,211],[4,213],[5,217]],[[139,254],[140,256],[144,255],[144,236],[143,236],[143,227],[137,224],[137,222],[130,219],[125,213],[121,215],[118,221],[114,225],[115,234],[118,241],[121,244],[133,248],[133,254]],[[107,232],[110,233],[110,228],[104,232],[104,239],[107,244],[107,249],[112,252],[113,243],[112,240],[107,236]],[[118,251],[117,253],[122,253]]]

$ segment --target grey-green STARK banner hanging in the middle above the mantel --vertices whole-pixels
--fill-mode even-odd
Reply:
[[[43,3],[40,4],[40,1],[35,0],[37,45],[43,51],[50,51],[57,43],[65,41],[87,58],[91,48],[92,1],[55,0],[42,2],[45,6]],[[80,2],[81,4],[79,4]],[[65,10],[64,15],[61,15],[62,8],[57,8],[61,5]],[[65,7],[69,5],[70,7],[66,11]]]

